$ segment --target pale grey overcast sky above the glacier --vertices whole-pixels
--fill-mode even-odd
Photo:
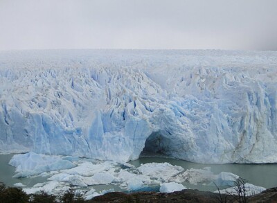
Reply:
[[[277,51],[277,0],[0,0],[0,49]]]

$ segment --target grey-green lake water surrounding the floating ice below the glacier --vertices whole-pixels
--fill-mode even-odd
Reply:
[[[3,182],[7,186],[13,186],[15,183],[22,183],[27,187],[32,187],[33,185],[39,182],[46,182],[48,177],[30,177],[30,178],[13,178],[15,175],[15,167],[8,165],[8,162],[13,155],[0,155],[0,182]],[[141,166],[141,164],[147,163],[163,163],[168,162],[172,165],[177,165],[183,167],[185,170],[190,168],[199,168],[210,167],[211,171],[215,174],[218,174],[222,171],[234,173],[240,177],[247,180],[247,182],[254,184],[256,186],[262,186],[265,188],[272,188],[277,186],[277,164],[195,164],[189,161],[172,159],[168,157],[141,157],[135,161],[129,161],[129,164],[132,164],[136,167]],[[184,183],[184,186],[187,188],[198,189],[200,191],[215,191],[215,186],[205,186],[202,184],[193,185]],[[96,191],[108,190],[114,188],[115,191],[123,191],[118,186],[114,185],[100,185],[93,186]]]

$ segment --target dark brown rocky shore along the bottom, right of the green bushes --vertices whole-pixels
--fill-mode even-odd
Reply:
[[[107,193],[94,197],[89,202],[239,202],[238,196],[217,193],[183,190],[174,193]],[[242,202],[242,201],[241,201]],[[269,188],[258,195],[246,197],[246,202],[277,202],[277,188]]]

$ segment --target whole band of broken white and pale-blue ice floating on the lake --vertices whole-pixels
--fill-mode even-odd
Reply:
[[[232,186],[235,179],[238,178],[238,175],[233,173],[221,172],[215,174],[210,167],[184,170],[181,166],[173,166],[168,163],[148,163],[141,164],[136,168],[131,164],[122,162],[75,159],[74,157],[70,159],[73,168],[41,170],[41,168],[46,168],[44,166],[46,164],[52,166],[51,161],[64,159],[69,161],[67,157],[39,155],[35,152],[14,155],[10,163],[16,163],[15,166],[20,169],[21,174],[30,174],[29,171],[32,171],[31,174],[33,175],[30,175],[30,178],[37,175],[48,177],[46,182],[35,184],[31,188],[27,188],[20,183],[15,184],[15,186],[24,187],[24,191],[28,194],[39,193],[40,191],[59,194],[69,188],[74,188],[75,190],[82,190],[84,197],[89,199],[102,194],[93,187],[103,184],[117,186],[123,191],[143,191],[158,188],[160,192],[168,193],[185,189],[186,187],[182,184],[186,183],[207,186],[215,186],[215,184],[217,186]],[[247,188],[247,190],[251,190],[251,188]],[[253,191],[258,193],[258,189],[253,188]]]

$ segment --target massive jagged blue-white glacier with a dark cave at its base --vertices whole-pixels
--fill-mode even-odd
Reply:
[[[0,52],[0,152],[277,162],[277,52]]]

